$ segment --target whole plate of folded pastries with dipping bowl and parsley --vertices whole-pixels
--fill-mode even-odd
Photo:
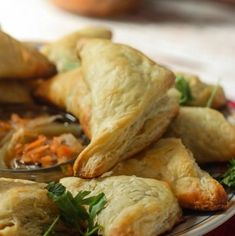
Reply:
[[[202,235],[235,214],[234,103],[88,27],[0,31],[0,235]]]

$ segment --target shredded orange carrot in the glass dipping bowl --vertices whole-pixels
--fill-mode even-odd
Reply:
[[[45,118],[47,122],[47,118]],[[48,118],[49,119],[49,118]],[[50,120],[50,119],[49,119]],[[41,124],[43,120],[36,120],[36,124]],[[12,114],[9,121],[0,120],[0,140],[5,137],[10,130],[15,131],[19,128],[23,129],[23,135],[28,138],[34,138],[35,132],[30,126],[33,123],[32,118],[22,118],[17,114]],[[31,128],[29,128],[31,127]],[[39,135],[30,142],[24,143],[21,139],[14,147],[13,166],[22,165],[37,165],[48,167],[58,163],[67,162],[78,155],[83,146],[72,134],[62,134],[58,137],[46,137]]]

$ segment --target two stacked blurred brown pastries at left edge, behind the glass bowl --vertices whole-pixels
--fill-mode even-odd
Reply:
[[[0,31],[0,103],[32,103],[28,81],[55,73],[54,64],[38,50]]]

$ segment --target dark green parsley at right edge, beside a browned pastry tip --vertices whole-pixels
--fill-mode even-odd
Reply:
[[[218,177],[221,184],[227,187],[235,187],[235,159],[229,162],[228,170]]]

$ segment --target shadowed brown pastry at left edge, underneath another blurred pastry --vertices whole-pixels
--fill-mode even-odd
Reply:
[[[0,103],[32,103],[29,88],[19,81],[0,80]]]

